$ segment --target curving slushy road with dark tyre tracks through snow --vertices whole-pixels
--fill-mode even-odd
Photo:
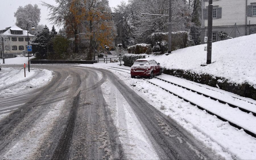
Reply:
[[[220,158],[110,71],[34,67],[54,76],[0,121],[0,159]]]

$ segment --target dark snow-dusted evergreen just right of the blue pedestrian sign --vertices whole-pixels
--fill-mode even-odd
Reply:
[[[47,57],[48,42],[51,39],[49,28],[45,25],[42,31],[38,31],[36,36],[30,41],[37,59],[45,59]]]

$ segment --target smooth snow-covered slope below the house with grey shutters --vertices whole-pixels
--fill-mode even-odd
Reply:
[[[190,70],[228,79],[229,83],[248,83],[256,88],[256,34],[212,43],[212,64],[206,64],[207,51],[202,44],[154,56],[166,69]]]

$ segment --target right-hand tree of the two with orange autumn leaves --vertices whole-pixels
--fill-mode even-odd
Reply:
[[[101,50],[104,49],[104,45],[113,46],[116,29],[107,0],[80,0],[80,2],[85,10],[85,15],[80,17],[80,22],[84,24],[85,32],[90,34],[88,59],[92,59],[92,51],[95,47]]]

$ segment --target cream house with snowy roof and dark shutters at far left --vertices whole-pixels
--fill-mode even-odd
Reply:
[[[0,34],[9,38],[11,43],[11,50],[5,50],[5,58],[14,58],[15,55],[20,55],[23,50],[26,51],[28,41],[34,37],[34,35],[29,34],[16,25],[0,30]]]

